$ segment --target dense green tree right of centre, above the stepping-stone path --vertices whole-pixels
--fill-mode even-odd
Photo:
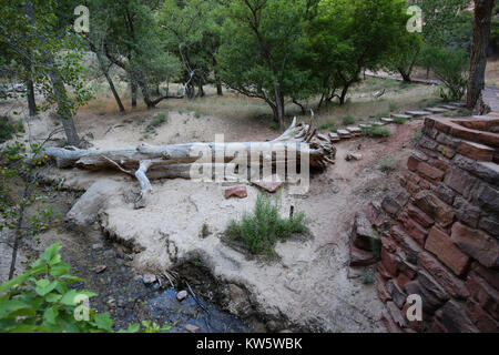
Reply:
[[[323,98],[344,104],[348,89],[365,69],[376,70],[400,31],[403,0],[322,0],[307,27],[312,67]],[[340,90],[336,94],[336,90]]]

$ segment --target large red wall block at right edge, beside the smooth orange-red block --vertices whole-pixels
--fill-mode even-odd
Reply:
[[[450,236],[461,251],[478,260],[483,266],[499,266],[499,242],[495,237],[459,222],[452,225]]]

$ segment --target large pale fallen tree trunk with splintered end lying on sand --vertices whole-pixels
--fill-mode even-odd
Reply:
[[[296,118],[292,125],[273,143],[297,143],[285,145],[287,162],[296,160],[299,162],[301,153],[307,153],[310,168],[325,169],[328,164],[334,164],[336,149],[329,136],[317,134],[317,129],[310,124],[296,124]],[[47,148],[44,154],[53,159],[59,168],[77,166],[84,170],[119,170],[129,175],[134,175],[141,186],[141,194],[135,203],[135,207],[145,206],[149,194],[152,192],[150,179],[190,179],[191,171],[200,164],[202,154],[192,156],[192,151],[207,152],[212,156],[212,162],[216,164],[230,164],[236,158],[235,152],[246,150],[248,156],[251,152],[264,146],[267,142],[232,142],[232,143],[187,143],[154,146],[140,144],[135,149],[122,150],[81,150],[77,148]],[[267,145],[266,145],[267,146]],[[215,151],[224,151],[223,161],[214,158]],[[263,160],[271,160],[275,165],[276,152],[271,152],[263,156]],[[205,156],[204,156],[205,158]],[[261,161],[263,161],[261,160]],[[210,163],[204,161],[204,163]],[[225,176],[227,178],[227,176]]]

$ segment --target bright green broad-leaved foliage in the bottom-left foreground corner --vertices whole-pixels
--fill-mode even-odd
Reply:
[[[82,281],[69,274],[71,266],[62,262],[59,243],[49,246],[30,268],[0,285],[1,333],[111,333],[109,313],[90,310],[91,291],[71,288]],[[144,333],[170,329],[147,321]],[[120,333],[139,332],[132,324]]]

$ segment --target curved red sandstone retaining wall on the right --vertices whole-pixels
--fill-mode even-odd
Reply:
[[[389,332],[499,331],[498,126],[493,116],[425,119],[400,189],[357,214],[352,254],[380,242]],[[410,294],[422,322],[406,317]]]

